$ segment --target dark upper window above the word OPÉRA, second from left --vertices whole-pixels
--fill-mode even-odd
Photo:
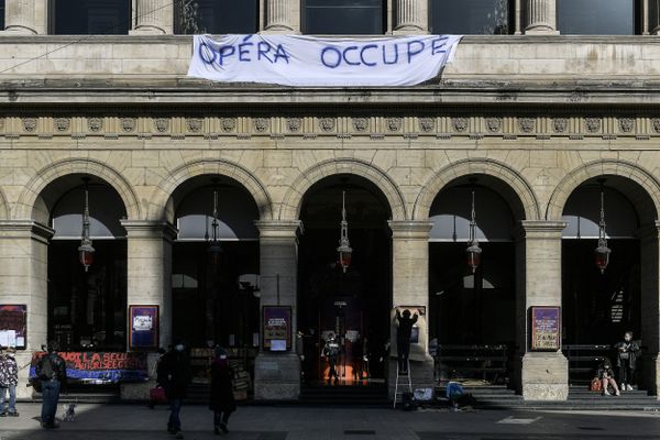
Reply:
[[[182,0],[174,4],[179,34],[253,34],[258,31],[258,0]]]

